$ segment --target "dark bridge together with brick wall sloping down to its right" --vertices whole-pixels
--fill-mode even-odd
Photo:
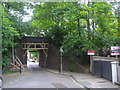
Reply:
[[[34,50],[39,53],[39,66],[51,69],[60,68],[60,50],[52,44],[52,39],[50,37],[23,37],[19,40],[19,44],[14,48],[14,57],[11,65],[13,67],[22,66],[24,69],[27,66],[27,52],[29,50]],[[86,57],[81,56],[81,59]],[[14,60],[16,62],[14,62]],[[15,65],[15,63],[17,65]],[[88,69],[80,66],[79,64],[70,62],[68,57],[63,56],[63,70],[69,70],[69,66],[76,65],[78,67],[78,72],[87,72]]]

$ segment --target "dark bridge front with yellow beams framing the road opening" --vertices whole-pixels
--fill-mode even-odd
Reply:
[[[23,37],[18,41],[20,44],[15,48],[17,56],[23,65],[27,65],[27,54],[29,50],[39,52],[40,66],[46,66],[48,58],[48,48],[51,42],[50,37]]]

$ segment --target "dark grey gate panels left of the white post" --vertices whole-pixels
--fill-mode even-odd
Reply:
[[[97,77],[112,81],[111,62],[112,60],[93,60],[92,73]]]

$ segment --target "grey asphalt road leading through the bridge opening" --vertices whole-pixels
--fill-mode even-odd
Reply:
[[[28,62],[23,74],[4,75],[3,88],[81,88],[69,76],[53,74]]]

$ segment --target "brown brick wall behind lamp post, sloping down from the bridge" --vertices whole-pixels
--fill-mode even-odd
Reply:
[[[47,68],[57,69],[60,67],[60,51],[54,45],[49,46],[47,58]],[[85,56],[81,56],[85,57]],[[82,58],[81,58],[82,59]],[[63,56],[63,70],[69,71],[69,66],[76,66],[77,69],[75,72],[88,73],[89,67],[85,67],[79,63],[73,63],[69,61],[69,57]]]

